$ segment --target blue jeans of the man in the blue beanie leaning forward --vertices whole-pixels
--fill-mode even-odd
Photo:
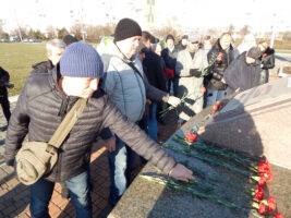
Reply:
[[[92,217],[92,199],[89,192],[89,170],[66,180],[70,196],[76,217]],[[33,218],[49,218],[48,205],[53,192],[54,182],[44,179],[31,185],[31,213]]]

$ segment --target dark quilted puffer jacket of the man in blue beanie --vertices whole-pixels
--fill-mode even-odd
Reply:
[[[48,142],[70,111],[76,97],[68,97],[58,86],[59,69],[50,73],[31,74],[21,93],[16,108],[10,119],[5,138],[5,162],[14,164],[17,150],[25,135],[28,141]],[[175,161],[151,141],[134,123],[124,118],[98,88],[59,148],[59,159],[45,178],[50,181],[65,181],[89,166],[92,144],[105,128],[110,128],[138,155],[145,157],[168,173]]]

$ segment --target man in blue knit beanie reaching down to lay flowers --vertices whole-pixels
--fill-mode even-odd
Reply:
[[[105,128],[110,128],[133,149],[169,175],[189,181],[192,171],[175,162],[158,144],[125,119],[99,87],[104,64],[88,44],[73,43],[49,73],[31,74],[10,119],[5,162],[14,166],[26,134],[31,142],[48,142],[78,98],[87,98],[83,113],[58,149],[56,166],[31,187],[31,214],[47,218],[54,182],[65,182],[76,217],[92,217],[89,193],[90,148]]]

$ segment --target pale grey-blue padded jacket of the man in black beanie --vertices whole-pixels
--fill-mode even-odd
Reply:
[[[132,122],[143,118],[146,97],[167,101],[168,94],[149,85],[144,80],[143,66],[135,57],[128,60],[112,40],[102,40],[97,48],[105,65],[104,89],[122,114]],[[134,64],[140,73],[129,64]]]

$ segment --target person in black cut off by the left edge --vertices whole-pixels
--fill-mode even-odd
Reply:
[[[0,104],[4,117],[7,119],[7,123],[9,123],[11,117],[8,92],[7,92],[8,87],[12,87],[12,85],[9,83],[9,73],[0,66]]]

